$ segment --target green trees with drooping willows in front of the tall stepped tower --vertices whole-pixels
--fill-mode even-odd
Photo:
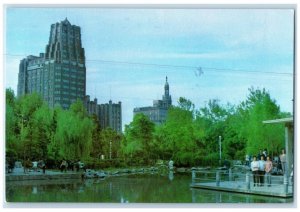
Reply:
[[[101,155],[116,158],[120,139],[112,129],[101,130],[80,100],[69,110],[52,109],[36,93],[16,98],[6,89],[7,162],[44,160],[49,168],[64,159],[92,164]]]

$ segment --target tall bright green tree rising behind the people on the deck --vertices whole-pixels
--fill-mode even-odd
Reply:
[[[252,87],[249,89],[249,95],[244,105],[247,153],[257,154],[259,149],[264,148],[268,148],[269,151],[277,151],[275,148],[284,141],[283,126],[263,124],[265,120],[280,118],[280,108],[276,101],[271,99],[269,92],[265,89],[259,90]]]

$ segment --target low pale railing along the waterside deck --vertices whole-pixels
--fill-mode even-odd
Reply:
[[[236,183],[239,185],[239,188],[244,190],[271,190],[270,187],[275,192],[280,193],[291,193],[293,191],[293,179],[286,175],[284,176],[274,176],[270,175],[271,178],[270,184],[267,181],[266,175],[256,175],[258,178],[263,177],[263,186],[260,186],[258,183],[254,184],[253,174],[250,171],[246,173],[241,172],[233,172],[232,169],[228,170],[216,170],[216,171],[208,171],[208,170],[192,170],[192,184],[209,184],[215,187],[227,186],[232,183]],[[231,184],[230,184],[231,185]],[[276,189],[275,189],[276,188]]]

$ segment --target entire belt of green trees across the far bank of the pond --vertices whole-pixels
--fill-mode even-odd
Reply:
[[[265,90],[250,88],[245,101],[234,106],[210,100],[195,109],[180,97],[167,120],[155,125],[143,114],[125,125],[123,134],[102,129],[96,115],[88,115],[81,101],[69,110],[49,108],[38,94],[16,98],[6,89],[6,160],[81,160],[91,168],[154,165],[172,159],[177,166],[214,166],[222,159],[243,160],[267,148],[277,154],[284,146],[284,126],[262,121],[291,116],[280,111]]]

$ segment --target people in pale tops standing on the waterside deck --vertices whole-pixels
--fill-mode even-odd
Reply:
[[[283,174],[286,171],[286,154],[284,149],[280,155],[280,162]],[[267,179],[268,186],[271,186],[271,173],[273,169],[273,162],[271,157],[267,154],[267,150],[260,150],[257,156],[253,156],[251,162],[251,171],[253,174],[254,186],[264,186],[265,177]]]

